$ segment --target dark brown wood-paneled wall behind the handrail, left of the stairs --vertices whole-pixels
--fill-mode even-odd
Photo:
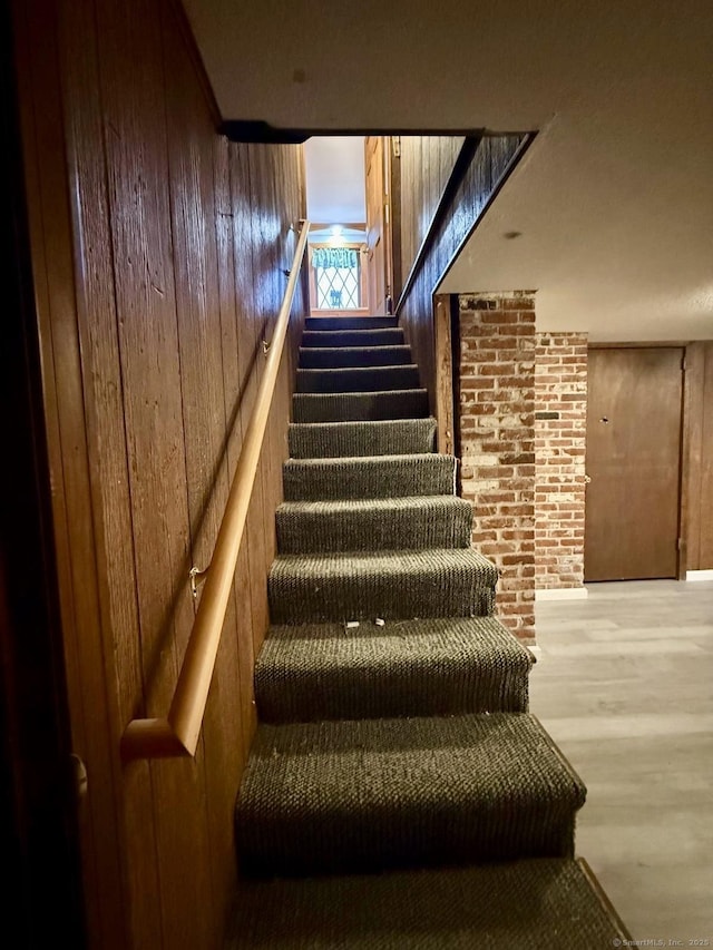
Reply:
[[[90,947],[217,948],[305,285],[199,747],[119,758],[165,715],[303,215],[299,147],[228,144],[172,0],[14,4],[53,529]]]

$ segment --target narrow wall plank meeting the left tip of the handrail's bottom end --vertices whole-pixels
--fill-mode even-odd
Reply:
[[[107,745],[116,774],[120,768],[117,741],[126,717],[136,709],[136,696],[140,695],[141,688],[124,391],[94,11],[85,4],[67,3],[61,12],[66,96],[69,100],[82,101],[81,109],[67,109],[67,147],[70,194],[75,199],[76,258],[82,277],[77,283],[77,313],[89,356],[85,364],[85,388],[91,469],[95,473],[92,497],[102,626],[113,631],[110,648],[105,649],[105,656],[116,657],[116,667],[107,666],[108,683],[117,684],[116,714]],[[87,372],[88,368],[90,372]],[[120,670],[120,675],[116,670]],[[92,774],[95,764],[88,764],[88,770]],[[131,929],[140,925],[148,939],[159,941],[158,908],[150,898],[158,890],[158,873],[150,811],[152,786],[146,763],[137,763],[127,773],[123,792],[126,838],[143,842],[140,849],[131,852],[130,866],[125,863],[123,868],[125,887],[130,887],[134,894],[128,923]],[[121,854],[127,856],[125,849]],[[110,893],[107,890],[104,900]],[[105,939],[116,940],[117,946],[123,946],[123,940],[128,938],[121,937],[119,928]]]

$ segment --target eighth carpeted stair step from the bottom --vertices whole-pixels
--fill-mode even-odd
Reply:
[[[422,419],[428,414],[428,391],[424,389],[383,392],[303,392],[292,396],[294,422]]]

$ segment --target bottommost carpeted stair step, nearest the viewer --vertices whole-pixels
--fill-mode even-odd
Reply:
[[[606,950],[631,934],[580,860],[243,881],[226,950]]]

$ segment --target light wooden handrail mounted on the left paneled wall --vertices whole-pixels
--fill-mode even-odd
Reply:
[[[309,234],[304,222],[168,717],[131,719],[121,736],[125,760],[195,755]]]

